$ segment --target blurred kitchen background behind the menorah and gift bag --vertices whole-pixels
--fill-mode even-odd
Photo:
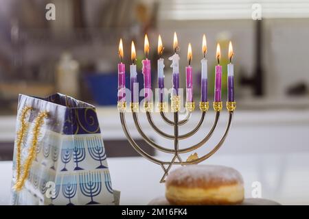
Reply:
[[[45,18],[47,3],[56,5],[55,21]],[[253,11],[258,10],[255,3],[262,6],[262,20],[252,18]],[[18,94],[47,96],[54,92],[98,107],[109,157],[135,156],[124,138],[115,106],[119,38],[124,40],[126,78],[129,79],[130,42],[135,40],[137,58],[141,60],[144,58],[144,34],[148,34],[152,87],[155,88],[157,38],[161,34],[165,47],[165,86],[170,87],[172,72],[167,58],[172,54],[174,31],[181,48],[183,86],[187,44],[192,43],[196,101],[200,95],[203,34],[207,36],[210,96],[213,94],[216,42],[221,44],[223,100],[227,92],[227,49],[232,40],[238,110],[220,154],[280,153],[282,157],[277,157],[279,162],[275,162],[279,170],[274,170],[280,181],[289,155],[309,154],[309,1],[305,0],[0,0],[0,159],[12,159]],[[142,86],[141,66],[137,68]],[[187,130],[198,122],[198,116],[197,111]],[[222,116],[214,143],[224,131],[226,118]],[[205,130],[212,119],[211,112]],[[166,143],[153,133],[146,119],[141,118],[141,123],[152,139]],[[163,122],[158,120],[157,123],[170,131]],[[138,138],[134,124],[128,125],[132,126],[133,136]],[[137,142],[145,144],[143,140]],[[146,145],[144,147],[155,154]],[[297,171],[307,172],[306,159],[305,156],[303,163],[296,159],[298,163],[289,167],[295,168],[295,164]],[[306,177],[303,180],[308,182],[308,173]],[[291,188],[294,185],[290,185]],[[274,186],[276,191],[282,189],[277,184]],[[308,197],[303,197],[304,192],[294,196],[296,203],[309,202]]]

